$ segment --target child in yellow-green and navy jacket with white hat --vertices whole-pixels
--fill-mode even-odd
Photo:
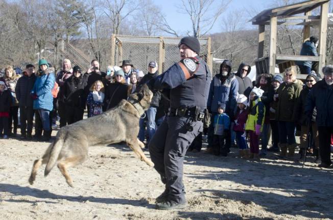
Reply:
[[[250,93],[249,115],[245,125],[245,130],[248,130],[250,135],[250,158],[258,158],[259,135],[265,119],[265,105],[260,99],[263,93],[263,90],[256,87]]]

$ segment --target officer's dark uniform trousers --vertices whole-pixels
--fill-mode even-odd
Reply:
[[[189,145],[202,131],[200,121],[192,122],[193,131],[185,128],[187,118],[166,117],[149,142],[149,153],[155,163],[156,171],[161,175],[168,200],[184,203],[183,162]]]

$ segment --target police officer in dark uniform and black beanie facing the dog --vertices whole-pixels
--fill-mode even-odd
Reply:
[[[168,91],[169,116],[164,119],[149,142],[149,152],[165,190],[156,198],[157,209],[183,208],[187,205],[183,184],[183,161],[186,151],[203,129],[210,71],[198,56],[199,40],[184,37],[178,45],[181,61],[155,77],[148,85]]]

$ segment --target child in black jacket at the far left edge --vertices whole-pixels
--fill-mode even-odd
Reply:
[[[9,111],[13,102],[13,97],[8,90],[4,81],[0,80],[0,135],[4,130],[4,139],[8,139],[9,135]]]

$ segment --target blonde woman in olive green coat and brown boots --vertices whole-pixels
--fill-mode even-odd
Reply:
[[[284,81],[279,86],[274,101],[277,102],[275,119],[279,127],[281,158],[293,159],[296,148],[295,139],[295,103],[301,93],[302,85],[296,79],[296,71],[290,67],[284,70]]]

